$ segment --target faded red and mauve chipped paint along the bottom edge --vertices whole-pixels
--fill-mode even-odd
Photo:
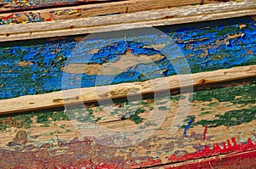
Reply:
[[[251,139],[248,139],[247,143],[242,144],[236,144],[236,140],[234,138],[232,138],[232,141],[233,145],[230,144],[227,147],[224,146],[223,148],[220,148],[219,144],[216,143],[211,145],[212,148],[206,145],[205,149],[196,153],[179,156],[174,154],[170,157],[166,155],[166,159],[169,159],[168,163],[166,164],[172,164],[173,162],[177,161],[181,162],[192,159],[200,159],[201,157],[205,158],[211,155],[227,154],[232,152],[241,153],[256,149],[255,143]],[[227,142],[230,143],[230,140],[227,140]],[[51,149],[50,147],[55,147],[55,149]],[[20,152],[21,149],[23,149],[23,152],[26,152],[26,156],[22,155],[24,153]],[[86,138],[84,138],[83,141],[74,139],[72,142],[60,144],[60,146],[57,146],[56,144],[45,144],[36,151],[33,151],[30,146],[21,149],[19,147],[17,147],[15,151],[1,149],[0,154],[2,155],[3,159],[1,166],[9,165],[18,168],[20,166],[41,166],[44,168],[141,168],[165,164],[158,158],[152,159],[151,157],[130,156],[129,159],[125,160],[122,156],[111,156],[114,155],[113,152],[124,151],[126,149],[102,147],[100,145],[91,143],[89,140],[86,140]],[[57,155],[57,151],[61,149],[66,149],[66,151],[69,153]],[[129,149],[135,148],[130,147]],[[96,152],[104,155],[104,158],[101,158],[96,154]],[[18,160],[15,161],[15,159],[20,159],[21,156],[24,162]],[[246,156],[246,158],[249,157]],[[236,161],[233,162],[236,163]]]

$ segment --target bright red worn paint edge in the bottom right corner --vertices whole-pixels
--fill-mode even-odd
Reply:
[[[232,142],[232,144],[231,144]],[[223,146],[223,147],[221,147]],[[131,168],[141,168],[141,167],[153,167],[154,168],[173,168],[173,169],[182,169],[182,168],[197,168],[198,164],[202,164],[202,168],[206,168],[212,166],[210,162],[223,162],[223,160],[234,161],[236,159],[238,161],[239,157],[243,159],[248,159],[250,155],[256,152],[255,150],[256,144],[255,140],[251,138],[247,139],[247,143],[236,143],[236,138],[228,139],[227,142],[222,144],[213,144],[213,148],[210,149],[208,145],[205,145],[205,149],[195,153],[189,153],[187,155],[171,155],[169,158],[169,162],[163,164],[160,159],[152,160],[148,158],[148,161],[143,161],[140,164],[133,164]],[[246,152],[246,153],[245,153]],[[253,155],[256,157],[256,154]],[[207,158],[207,160],[205,160]],[[168,164],[169,163],[169,164]],[[223,165],[221,165],[223,166]],[[228,166],[228,165],[227,165]],[[213,167],[209,167],[213,168]]]

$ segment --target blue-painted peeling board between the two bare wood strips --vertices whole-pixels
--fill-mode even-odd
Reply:
[[[256,65],[256,26],[255,21],[250,17],[194,23],[193,25],[172,25],[158,27],[158,29],[172,37],[173,42],[177,44],[177,46],[174,46],[178,50],[177,54],[168,54],[166,57],[169,59],[173,57],[172,64],[175,64],[176,62],[178,63],[179,56],[184,56],[192,73],[228,69],[241,65]],[[117,42],[113,42],[113,46],[110,48],[113,51],[105,55],[109,56],[107,57],[108,59],[111,59],[111,54],[119,54],[115,58],[118,60],[120,53],[121,55],[124,53],[125,31],[122,31],[121,35]],[[94,55],[97,58],[91,60],[91,62],[95,63],[94,66],[91,66],[88,64],[86,57],[81,59],[79,52],[73,52],[75,48],[79,48],[79,45],[84,47],[84,37],[1,42],[0,98],[9,99],[28,94],[60,91],[61,78],[63,76],[63,69],[61,68],[66,65],[67,59],[71,58],[72,53],[74,53],[73,56],[77,57],[73,57],[73,60],[69,62],[68,68],[73,68],[74,71],[70,71],[70,73],[73,73],[71,76],[81,78],[81,87],[93,87],[98,73],[95,69],[96,66],[100,68],[101,64],[108,64],[108,61],[102,61],[104,57],[95,48],[102,48],[102,51],[108,52],[108,45],[111,42],[95,41],[91,45],[85,45],[86,48],[82,49],[83,53],[89,53],[89,56]],[[137,37],[137,39],[144,39],[144,37]],[[111,79],[115,76],[114,73],[116,71],[108,72],[109,76],[106,74],[98,75],[97,77],[102,76],[102,82],[100,81],[101,78],[98,78],[97,82],[101,82],[101,85],[140,82],[162,77],[162,72],[164,72],[165,76],[177,74],[168,60],[162,59],[163,56],[161,55],[157,55],[163,48],[161,41],[156,40],[154,36],[149,36],[146,43],[143,44],[143,50],[142,48],[134,48],[140,46],[140,43],[131,43],[130,46],[135,44],[131,53],[146,54],[148,55],[146,57],[153,59],[156,65],[145,63],[145,59],[140,59],[143,57],[124,56],[122,59],[136,58],[137,63],[131,64],[130,68],[125,70],[125,73],[116,76],[113,80]],[[119,47],[120,51],[114,49],[114,47]],[[152,52],[154,52],[153,55]],[[155,59],[162,60],[157,62],[154,59],[154,55],[157,56]],[[126,65],[126,62],[119,65]],[[75,68],[79,66],[87,68],[84,70],[83,76],[81,74],[76,75],[78,72],[75,71]],[[177,66],[179,65],[177,64]],[[180,69],[183,68],[182,66]],[[141,74],[146,76],[140,76]],[[106,82],[104,79],[110,80]]]

